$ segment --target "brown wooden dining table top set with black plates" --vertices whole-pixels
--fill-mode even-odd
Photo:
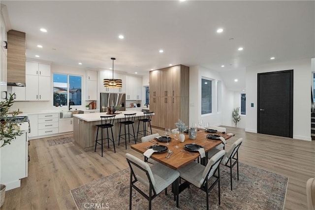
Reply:
[[[222,136],[225,140],[231,138],[232,136],[228,136],[226,134],[222,134],[221,132],[217,133],[206,133],[204,129],[199,129],[197,132],[197,137],[195,140],[195,144],[202,146],[205,149],[205,152],[215,148],[216,146],[221,144],[221,140],[211,140],[207,139],[206,135],[208,134],[216,134]],[[168,150],[172,150],[174,153],[170,156],[169,159],[166,159],[165,156],[167,152],[157,153],[154,152],[151,155],[151,158],[158,161],[159,163],[162,163],[172,169],[177,170],[178,168],[192,162],[195,160],[198,156],[200,156],[198,151],[189,151],[193,153],[193,155],[187,153],[187,152],[181,152],[181,150],[184,149],[184,145],[186,144],[192,144],[194,141],[189,139],[189,135],[185,134],[185,142],[180,142],[179,140],[176,142],[173,138],[173,135],[170,135],[172,137],[172,140],[169,142],[169,145],[166,145],[166,142],[158,142],[156,139],[153,139],[154,142],[158,142],[158,145],[164,145],[168,147]],[[178,144],[179,148],[176,149],[174,146]],[[147,149],[145,149],[148,146],[153,145],[152,142],[143,142],[135,145],[131,145],[131,149],[136,150],[140,153],[144,153]]]

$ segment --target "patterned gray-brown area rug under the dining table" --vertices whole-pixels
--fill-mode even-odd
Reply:
[[[218,202],[218,186],[209,194],[211,210],[283,210],[288,178],[240,163],[239,180],[233,169],[233,191],[230,190],[229,168],[221,166],[221,205]],[[129,209],[129,168],[94,180],[70,190],[79,210],[85,209]],[[171,187],[168,195],[161,192],[153,201],[152,209],[177,210]],[[180,209],[206,209],[204,191],[190,185],[180,193]],[[149,202],[136,190],[132,190],[132,209],[148,209]]]

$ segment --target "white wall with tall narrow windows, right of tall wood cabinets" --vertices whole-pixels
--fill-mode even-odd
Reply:
[[[212,113],[203,115],[201,118],[201,78],[209,78],[214,80],[213,96],[212,96]],[[217,90],[218,80],[222,84],[222,109],[218,112],[217,107]],[[232,126],[231,116],[233,110],[233,92],[228,91],[222,82],[219,72],[207,69],[203,66],[189,67],[189,125],[198,123],[202,119],[209,122],[210,125],[227,125]],[[187,122],[185,122],[187,123]]]

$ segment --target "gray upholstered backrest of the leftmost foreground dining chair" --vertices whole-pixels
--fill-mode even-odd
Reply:
[[[126,153],[126,159],[130,167],[132,176],[143,185],[150,188],[150,183],[154,186],[156,181],[148,163],[140,160],[132,154]],[[130,177],[131,178],[131,177]]]

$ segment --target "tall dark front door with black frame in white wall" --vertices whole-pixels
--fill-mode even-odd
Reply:
[[[293,70],[257,75],[257,132],[293,137]]]

